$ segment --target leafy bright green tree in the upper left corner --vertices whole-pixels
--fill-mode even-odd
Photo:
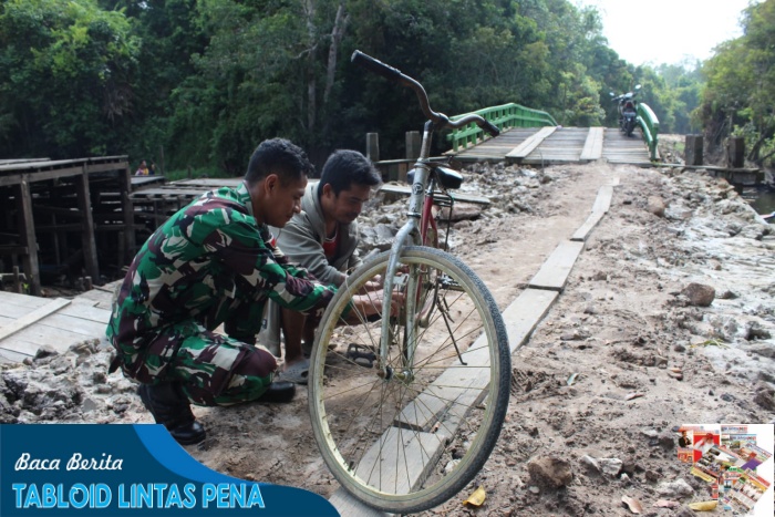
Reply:
[[[0,7],[0,155],[120,153],[140,41],[94,0]]]

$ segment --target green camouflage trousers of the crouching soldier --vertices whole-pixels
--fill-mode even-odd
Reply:
[[[194,404],[231,405],[256,400],[277,371],[277,361],[268,351],[208,331],[195,321],[169,325],[156,340],[168,340],[177,348],[156,380],[179,381]],[[145,362],[158,364],[157,359],[146,355]]]

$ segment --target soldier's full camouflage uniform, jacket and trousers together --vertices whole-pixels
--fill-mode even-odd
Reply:
[[[241,184],[203,195],[148,238],[106,333],[126,376],[180,380],[197,404],[244,402],[264,393],[277,370],[254,347],[266,300],[322,313],[334,292],[275,247]],[[228,337],[213,332],[221,323]]]

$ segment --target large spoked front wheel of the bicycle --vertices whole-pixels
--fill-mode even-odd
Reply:
[[[406,514],[455,496],[487,461],[508,409],[510,352],[482,280],[445,251],[407,247],[401,266],[417,268],[420,278],[423,268],[436,272],[440,307],[428,328],[414,323],[413,375],[396,380],[397,371],[380,376],[383,370],[364,368],[363,358],[347,352],[350,343],[379,350],[381,322],[356,314],[356,324],[345,324],[343,312],[366,281],[385,272],[389,257],[361,266],[328,307],[310,358],[309,404],[314,438],[340,485],[365,505]],[[401,361],[399,349],[390,347],[388,365]]]

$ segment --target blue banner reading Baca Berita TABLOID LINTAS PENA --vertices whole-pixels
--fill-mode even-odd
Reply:
[[[0,515],[337,516],[323,497],[198,463],[162,425],[0,425]]]

